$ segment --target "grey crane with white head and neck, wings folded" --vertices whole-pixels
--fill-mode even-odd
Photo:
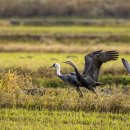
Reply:
[[[72,86],[75,86],[76,87],[76,90],[77,92],[79,93],[79,96],[80,97],[83,97],[80,89],[79,89],[79,82],[76,78],[76,74],[74,72],[70,73],[70,74],[61,74],[60,73],[60,70],[61,70],[61,67],[60,67],[60,64],[59,63],[55,63],[53,64],[52,66],[50,66],[49,68],[51,67],[55,67],[56,68],[56,75],[61,79],[63,80],[65,83],[68,83]]]

